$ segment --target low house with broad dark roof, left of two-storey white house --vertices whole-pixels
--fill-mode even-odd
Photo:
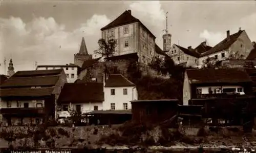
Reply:
[[[61,112],[68,112],[71,108],[84,114],[102,110],[103,101],[103,82],[66,83],[61,90],[58,106]]]

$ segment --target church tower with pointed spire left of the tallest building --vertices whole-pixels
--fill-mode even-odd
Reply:
[[[93,58],[92,55],[88,54],[86,42],[84,41],[83,37],[82,37],[79,53],[75,54],[74,58],[75,58],[75,61],[74,61],[75,65],[78,65],[79,67],[82,67],[83,61]]]

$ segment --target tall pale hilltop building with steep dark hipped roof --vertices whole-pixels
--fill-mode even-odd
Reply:
[[[138,53],[139,62],[148,63],[155,56],[155,36],[139,19],[132,16],[131,10],[123,12],[109,25],[101,28],[102,38],[116,39],[115,56]]]

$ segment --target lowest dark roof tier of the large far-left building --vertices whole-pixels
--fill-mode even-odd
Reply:
[[[51,96],[54,88],[17,88],[17,89],[1,89],[0,97],[41,97]]]

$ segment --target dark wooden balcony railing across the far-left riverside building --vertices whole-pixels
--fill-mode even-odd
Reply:
[[[44,108],[1,108],[0,113],[2,115],[43,115],[45,114]]]

